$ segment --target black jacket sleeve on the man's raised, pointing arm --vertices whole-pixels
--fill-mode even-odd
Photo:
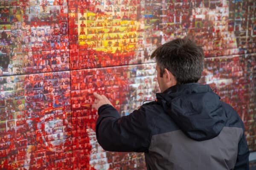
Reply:
[[[119,116],[111,105],[102,105],[96,123],[96,137],[103,149],[117,152],[147,152],[151,133],[140,108],[128,116]]]

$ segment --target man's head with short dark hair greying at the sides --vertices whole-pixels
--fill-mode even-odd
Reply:
[[[203,48],[187,37],[166,42],[151,58],[157,61],[157,81],[162,92],[176,84],[198,82],[204,68]]]

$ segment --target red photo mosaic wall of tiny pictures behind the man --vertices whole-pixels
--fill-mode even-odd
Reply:
[[[159,92],[151,53],[189,36],[200,83],[244,121],[256,151],[254,0],[0,0],[0,169],[137,170],[143,153],[96,141],[93,92],[126,116]]]

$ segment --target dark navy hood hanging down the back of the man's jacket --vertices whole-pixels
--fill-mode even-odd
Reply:
[[[220,97],[209,85],[175,85],[158,93],[157,102],[189,138],[197,141],[218,136],[227,122]]]

